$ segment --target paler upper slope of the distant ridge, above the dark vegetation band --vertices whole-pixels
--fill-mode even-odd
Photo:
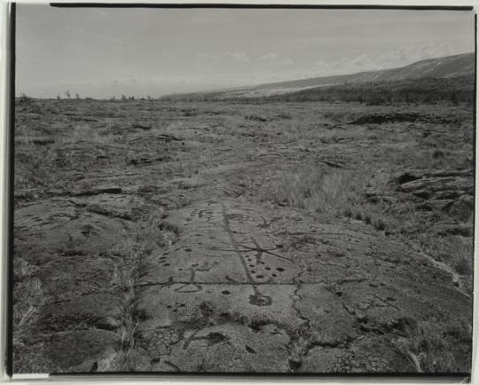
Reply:
[[[345,83],[380,83],[421,78],[447,79],[459,76],[471,76],[471,79],[473,79],[474,74],[475,54],[471,52],[443,58],[424,59],[405,67],[365,71],[349,75],[321,76],[287,82],[265,83],[236,90],[192,93],[188,94],[188,96],[194,98],[202,95],[208,98],[219,99],[264,98]],[[175,98],[181,98],[181,95],[177,95]]]

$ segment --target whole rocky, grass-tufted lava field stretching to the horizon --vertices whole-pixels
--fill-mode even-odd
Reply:
[[[467,106],[16,106],[14,372],[465,373]]]

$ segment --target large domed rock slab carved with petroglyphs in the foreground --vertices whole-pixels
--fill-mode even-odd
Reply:
[[[382,336],[415,338],[420,322],[446,328],[470,309],[447,272],[365,224],[278,217],[242,198],[200,201],[168,221],[178,240],[137,284],[144,370],[411,372],[402,342]],[[305,233],[285,246],[285,234]]]

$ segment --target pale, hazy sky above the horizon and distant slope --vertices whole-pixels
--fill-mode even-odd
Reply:
[[[474,12],[18,4],[16,93],[159,97],[474,51]]]

